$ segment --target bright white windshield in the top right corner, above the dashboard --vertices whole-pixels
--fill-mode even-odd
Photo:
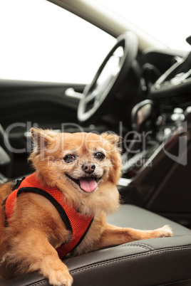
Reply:
[[[97,0],[169,48],[190,51],[190,0]]]

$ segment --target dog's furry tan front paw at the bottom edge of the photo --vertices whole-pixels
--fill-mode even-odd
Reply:
[[[71,286],[73,277],[71,277],[68,270],[52,271],[48,277],[49,283],[53,286]]]

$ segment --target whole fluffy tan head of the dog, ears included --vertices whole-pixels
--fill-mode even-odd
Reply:
[[[116,134],[31,132],[35,147],[29,159],[38,177],[63,191],[68,203],[88,206],[116,191],[121,169]]]

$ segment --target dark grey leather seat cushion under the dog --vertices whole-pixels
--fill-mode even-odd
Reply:
[[[172,238],[152,238],[97,250],[63,260],[73,276],[73,286],[91,285],[191,285],[191,231],[167,218],[137,206],[123,205],[108,223],[154,229],[171,226]],[[2,285],[46,286],[37,272],[15,277]]]

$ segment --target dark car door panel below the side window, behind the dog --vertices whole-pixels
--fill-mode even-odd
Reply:
[[[11,176],[28,171],[31,138],[27,132],[31,127],[61,129],[62,124],[76,124],[79,100],[65,95],[68,88],[83,92],[84,85],[0,80],[0,122],[9,137],[14,166],[20,166]]]

